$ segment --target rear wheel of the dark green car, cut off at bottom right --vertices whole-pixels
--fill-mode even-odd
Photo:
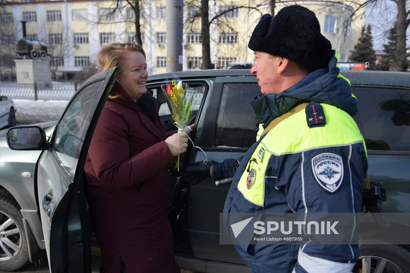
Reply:
[[[359,249],[353,273],[405,273],[410,268],[410,253],[401,246],[363,245]]]

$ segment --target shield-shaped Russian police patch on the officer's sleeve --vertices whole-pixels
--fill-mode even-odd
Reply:
[[[312,158],[314,178],[327,191],[334,192],[342,184],[342,157],[326,152]]]

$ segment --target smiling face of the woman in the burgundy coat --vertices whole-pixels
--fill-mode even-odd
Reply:
[[[147,64],[144,55],[139,51],[128,52],[125,59],[125,65],[116,75],[116,80],[124,86],[133,100],[137,100],[147,92]]]

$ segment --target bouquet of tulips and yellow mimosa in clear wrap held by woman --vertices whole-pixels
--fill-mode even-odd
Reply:
[[[169,80],[166,80],[165,82],[167,83],[169,82]],[[174,125],[178,128],[178,132],[183,132],[194,118],[193,112],[191,110],[194,108],[197,102],[194,102],[193,105],[195,92],[191,92],[188,84],[182,84],[182,81],[180,80],[178,80],[177,84],[175,77],[171,80],[171,83],[166,83],[161,85],[162,92],[164,93],[166,103],[168,104],[169,111],[171,112],[171,116],[175,121]],[[190,127],[187,128],[191,129]],[[189,140],[191,139],[189,138]],[[192,140],[191,142],[192,145],[194,145],[194,142]],[[177,168],[179,171],[179,155],[175,168]]]

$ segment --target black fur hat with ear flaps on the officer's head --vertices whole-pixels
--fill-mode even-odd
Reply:
[[[248,47],[290,59],[311,71],[327,67],[332,55],[332,45],[320,33],[316,15],[299,5],[284,7],[274,18],[264,14]]]

